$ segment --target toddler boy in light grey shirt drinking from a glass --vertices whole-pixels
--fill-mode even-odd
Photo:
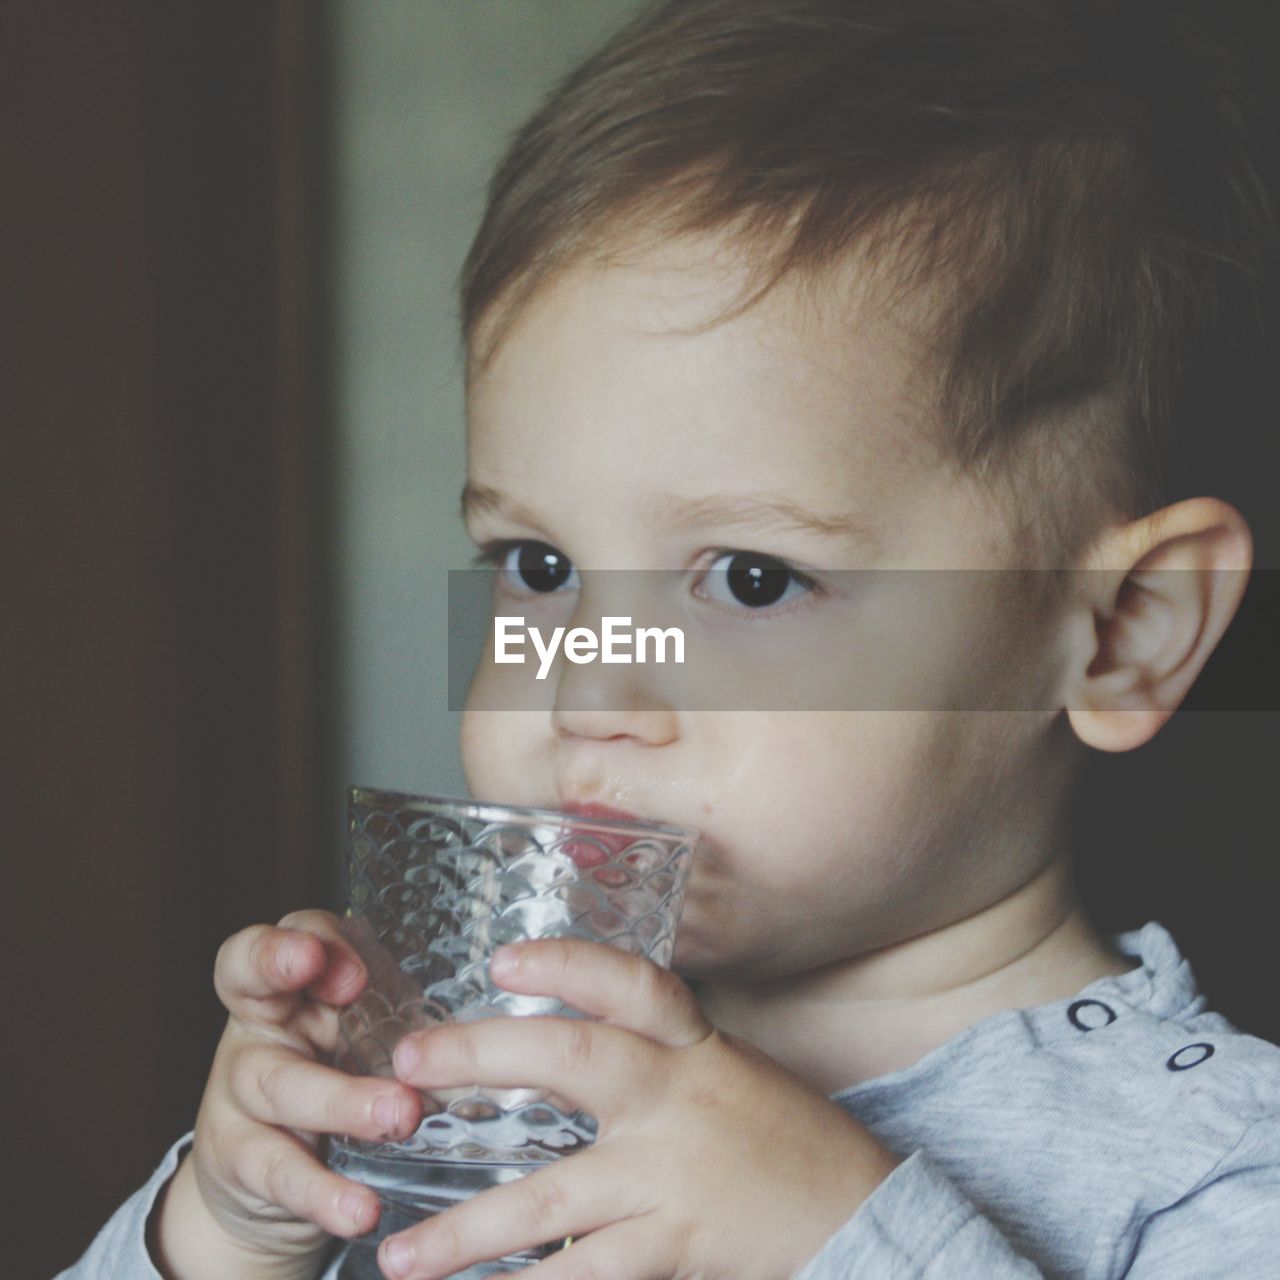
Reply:
[[[508,948],[498,982],[595,1018],[433,1030],[357,1080],[325,1065],[365,982],[333,919],[237,934],[195,1140],[76,1280],[356,1275],[333,1238],[378,1201],[323,1135],[406,1137],[419,1089],[474,1082],[599,1139],[389,1235],[389,1280],[568,1236],[545,1280],[1280,1274],[1280,1050],[1206,1011],[1158,924],[1100,934],[1066,820],[1252,554],[1162,479],[1270,236],[1181,10],[682,0],[552,96],[463,275],[463,507],[502,612],[660,568],[726,668],[872,655],[877,705],[484,662],[475,795],[703,832],[676,973]]]

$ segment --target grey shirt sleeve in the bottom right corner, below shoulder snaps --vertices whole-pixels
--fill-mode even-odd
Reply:
[[[1126,1280],[1280,1274],[1280,1115],[1252,1124],[1212,1171],[1143,1224]]]

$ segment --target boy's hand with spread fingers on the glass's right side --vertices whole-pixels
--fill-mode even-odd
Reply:
[[[503,963],[506,961],[506,964]],[[689,988],[593,942],[503,948],[500,986],[558,996],[604,1021],[495,1018],[406,1037],[422,1088],[540,1085],[600,1124],[586,1151],[383,1242],[392,1280],[576,1236],[538,1265],[568,1280],[785,1280],[897,1164],[851,1116],[717,1032]]]

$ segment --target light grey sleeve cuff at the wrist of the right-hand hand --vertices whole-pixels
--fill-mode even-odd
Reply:
[[[1043,1275],[916,1151],[876,1188],[796,1280],[1034,1280]]]

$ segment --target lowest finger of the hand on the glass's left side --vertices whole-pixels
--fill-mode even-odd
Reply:
[[[330,1235],[364,1235],[381,1212],[375,1192],[339,1178],[297,1139],[275,1129],[257,1129],[237,1144],[233,1172],[244,1190]]]

